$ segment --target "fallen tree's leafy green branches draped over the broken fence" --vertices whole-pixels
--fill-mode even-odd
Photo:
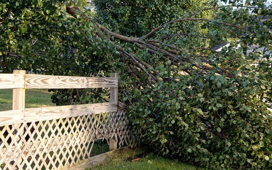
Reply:
[[[176,9],[183,1],[163,2],[94,1],[94,13],[81,1],[2,1],[0,69],[118,72],[119,98],[129,105],[142,143],[207,168],[271,168],[272,24],[261,21],[271,16],[271,6],[234,0],[200,14],[192,11],[209,3],[197,1],[184,12],[186,5]],[[58,90],[52,99],[62,105],[101,102],[107,94]]]

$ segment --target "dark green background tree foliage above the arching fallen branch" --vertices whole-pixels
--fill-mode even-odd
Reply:
[[[114,32],[141,37],[144,33],[168,21],[182,18],[185,14],[193,12],[196,8],[208,8],[209,0],[125,0],[107,1],[94,0],[92,5],[96,9],[96,20],[107,24]],[[207,16],[205,11],[199,15]],[[183,29],[189,25],[180,24]],[[181,29],[179,27],[179,29]]]

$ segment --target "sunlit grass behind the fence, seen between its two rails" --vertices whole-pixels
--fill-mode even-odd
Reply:
[[[47,89],[26,89],[25,108],[55,106]],[[0,89],[0,111],[12,110],[12,89]]]

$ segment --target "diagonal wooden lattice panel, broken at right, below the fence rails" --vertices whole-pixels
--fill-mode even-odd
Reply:
[[[1,169],[62,169],[91,159],[94,141],[135,146],[125,111],[0,127]]]

